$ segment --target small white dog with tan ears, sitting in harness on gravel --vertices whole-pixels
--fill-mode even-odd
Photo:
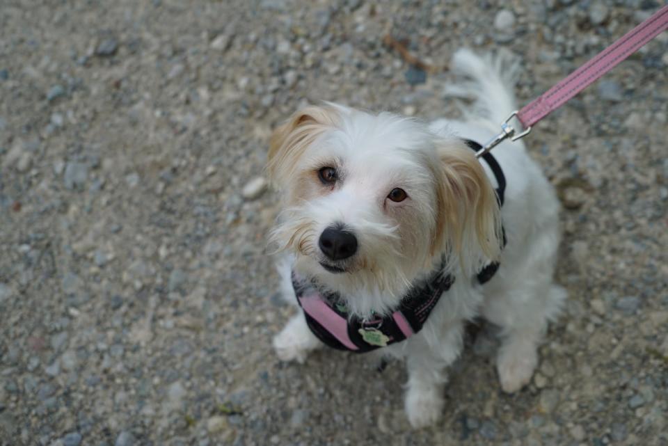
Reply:
[[[466,321],[500,326],[498,375],[514,392],[566,297],[552,282],[552,186],[520,141],[495,148],[493,166],[464,139],[498,133],[515,109],[518,66],[460,50],[451,67],[468,81],[450,92],[475,99],[466,120],[309,106],[276,129],[269,150],[285,205],[271,239],[290,253],[283,294],[301,305],[273,341],[278,356],[301,363],[325,342],[403,358],[414,427],[440,417]]]

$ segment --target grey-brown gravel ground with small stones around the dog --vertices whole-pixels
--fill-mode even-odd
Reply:
[[[403,367],[278,362],[255,180],[305,102],[454,114],[469,46],[521,56],[524,103],[662,2],[1,3],[0,445],[668,445],[668,33],[527,139],[567,309],[516,395],[485,327],[436,427],[409,429]]]

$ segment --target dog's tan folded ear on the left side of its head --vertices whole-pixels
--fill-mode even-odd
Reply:
[[[273,131],[267,155],[271,183],[282,189],[294,173],[299,157],[317,136],[337,125],[339,114],[333,106],[307,106],[294,113]]]

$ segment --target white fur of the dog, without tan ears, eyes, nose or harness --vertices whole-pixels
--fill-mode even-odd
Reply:
[[[455,54],[452,67],[468,80],[448,91],[475,100],[466,120],[442,119],[427,126],[388,113],[375,116],[336,106],[340,127],[321,136],[295,167],[316,168],[323,162],[337,162],[346,170],[346,180],[342,188],[288,209],[274,239],[281,241],[297,221],[306,221],[310,239],[303,251],[294,250],[292,267],[350,296],[349,308],[356,314],[394,308],[410,283],[428,274],[442,254],[429,255],[429,232],[436,216],[434,184],[424,166],[438,162],[434,141],[453,141],[453,136],[459,136],[482,143],[514,110],[510,89],[517,77],[516,63],[507,58],[479,58],[461,50]],[[552,186],[521,141],[504,142],[493,154],[507,178],[501,209],[507,246],[500,255],[498,273],[480,286],[474,276],[479,261],[452,262],[454,285],[440,299],[422,331],[383,349],[383,353],[406,360],[406,413],[414,427],[434,423],[440,417],[445,369],[461,352],[466,321],[481,315],[500,326],[497,370],[503,390],[514,392],[530,381],[538,363],[536,348],[541,336],[566,298],[564,289],[552,282],[560,239],[559,202]],[[494,184],[491,170],[482,164]],[[410,207],[404,208],[408,212],[402,212],[401,207],[383,207],[388,203],[383,204],[382,197],[395,186],[404,187],[411,197],[405,204]],[[349,273],[343,274],[328,273],[319,266],[317,235],[333,221],[343,221],[355,230],[359,257],[374,262],[373,273],[356,263],[349,264]],[[437,230],[447,232],[448,228]],[[475,244],[462,249],[474,253],[471,258],[485,258]],[[466,257],[464,253],[452,254]],[[296,303],[289,286],[290,269],[290,264],[280,268],[282,289],[288,300]],[[300,362],[318,344],[301,312],[274,340],[281,359]]]

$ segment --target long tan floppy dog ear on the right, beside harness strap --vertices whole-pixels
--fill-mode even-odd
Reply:
[[[501,250],[500,209],[482,164],[463,142],[437,145],[436,234],[432,251],[449,249],[477,269]],[[470,271],[472,272],[472,271]]]

